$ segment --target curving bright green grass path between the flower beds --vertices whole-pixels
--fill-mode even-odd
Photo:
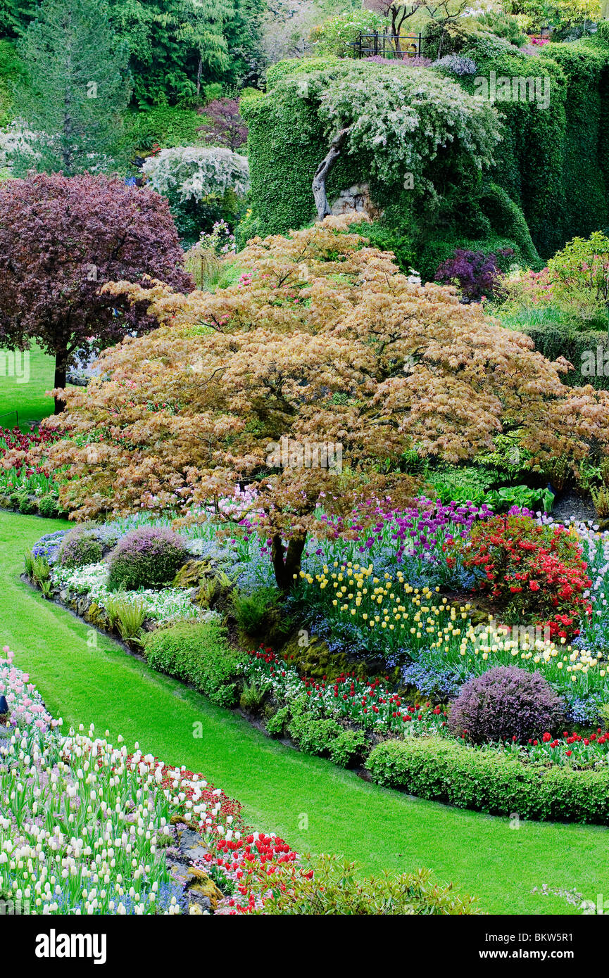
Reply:
[[[342,852],[369,871],[431,867],[492,913],[566,913],[546,883],[586,899],[609,890],[607,830],[524,822],[418,801],[307,757],[152,672],[19,579],[23,551],[56,520],[0,511],[0,645],[10,645],[56,716],[122,733],[238,798],[249,822],[296,849]],[[201,724],[202,737],[193,736]],[[304,829],[306,816],[308,827]]]

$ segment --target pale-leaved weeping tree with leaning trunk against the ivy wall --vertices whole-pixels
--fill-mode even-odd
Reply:
[[[450,184],[475,186],[491,165],[499,140],[491,104],[433,71],[349,62],[283,84],[316,106],[328,140],[312,181],[320,220],[331,213],[327,180],[341,156],[365,159],[381,183],[427,200]]]

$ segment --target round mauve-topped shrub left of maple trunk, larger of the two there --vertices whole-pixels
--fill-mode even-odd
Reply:
[[[111,591],[136,591],[168,584],[190,556],[172,530],[140,526],[125,534],[111,553],[108,586]]]

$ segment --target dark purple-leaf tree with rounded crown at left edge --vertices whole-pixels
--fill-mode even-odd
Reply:
[[[106,282],[146,288],[150,279],[194,289],[158,194],[89,173],[40,173],[0,188],[0,348],[37,342],[55,357],[56,389],[78,350],[157,325],[146,302],[100,295]],[[63,405],[56,394],[56,414]]]

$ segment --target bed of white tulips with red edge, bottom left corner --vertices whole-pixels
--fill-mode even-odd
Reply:
[[[3,653],[0,892],[44,914],[263,906],[276,868],[297,859],[287,843],[249,831],[240,805],[201,775],[130,754],[120,737],[115,747],[93,728],[61,733],[7,646]],[[198,836],[189,847],[184,827]]]

